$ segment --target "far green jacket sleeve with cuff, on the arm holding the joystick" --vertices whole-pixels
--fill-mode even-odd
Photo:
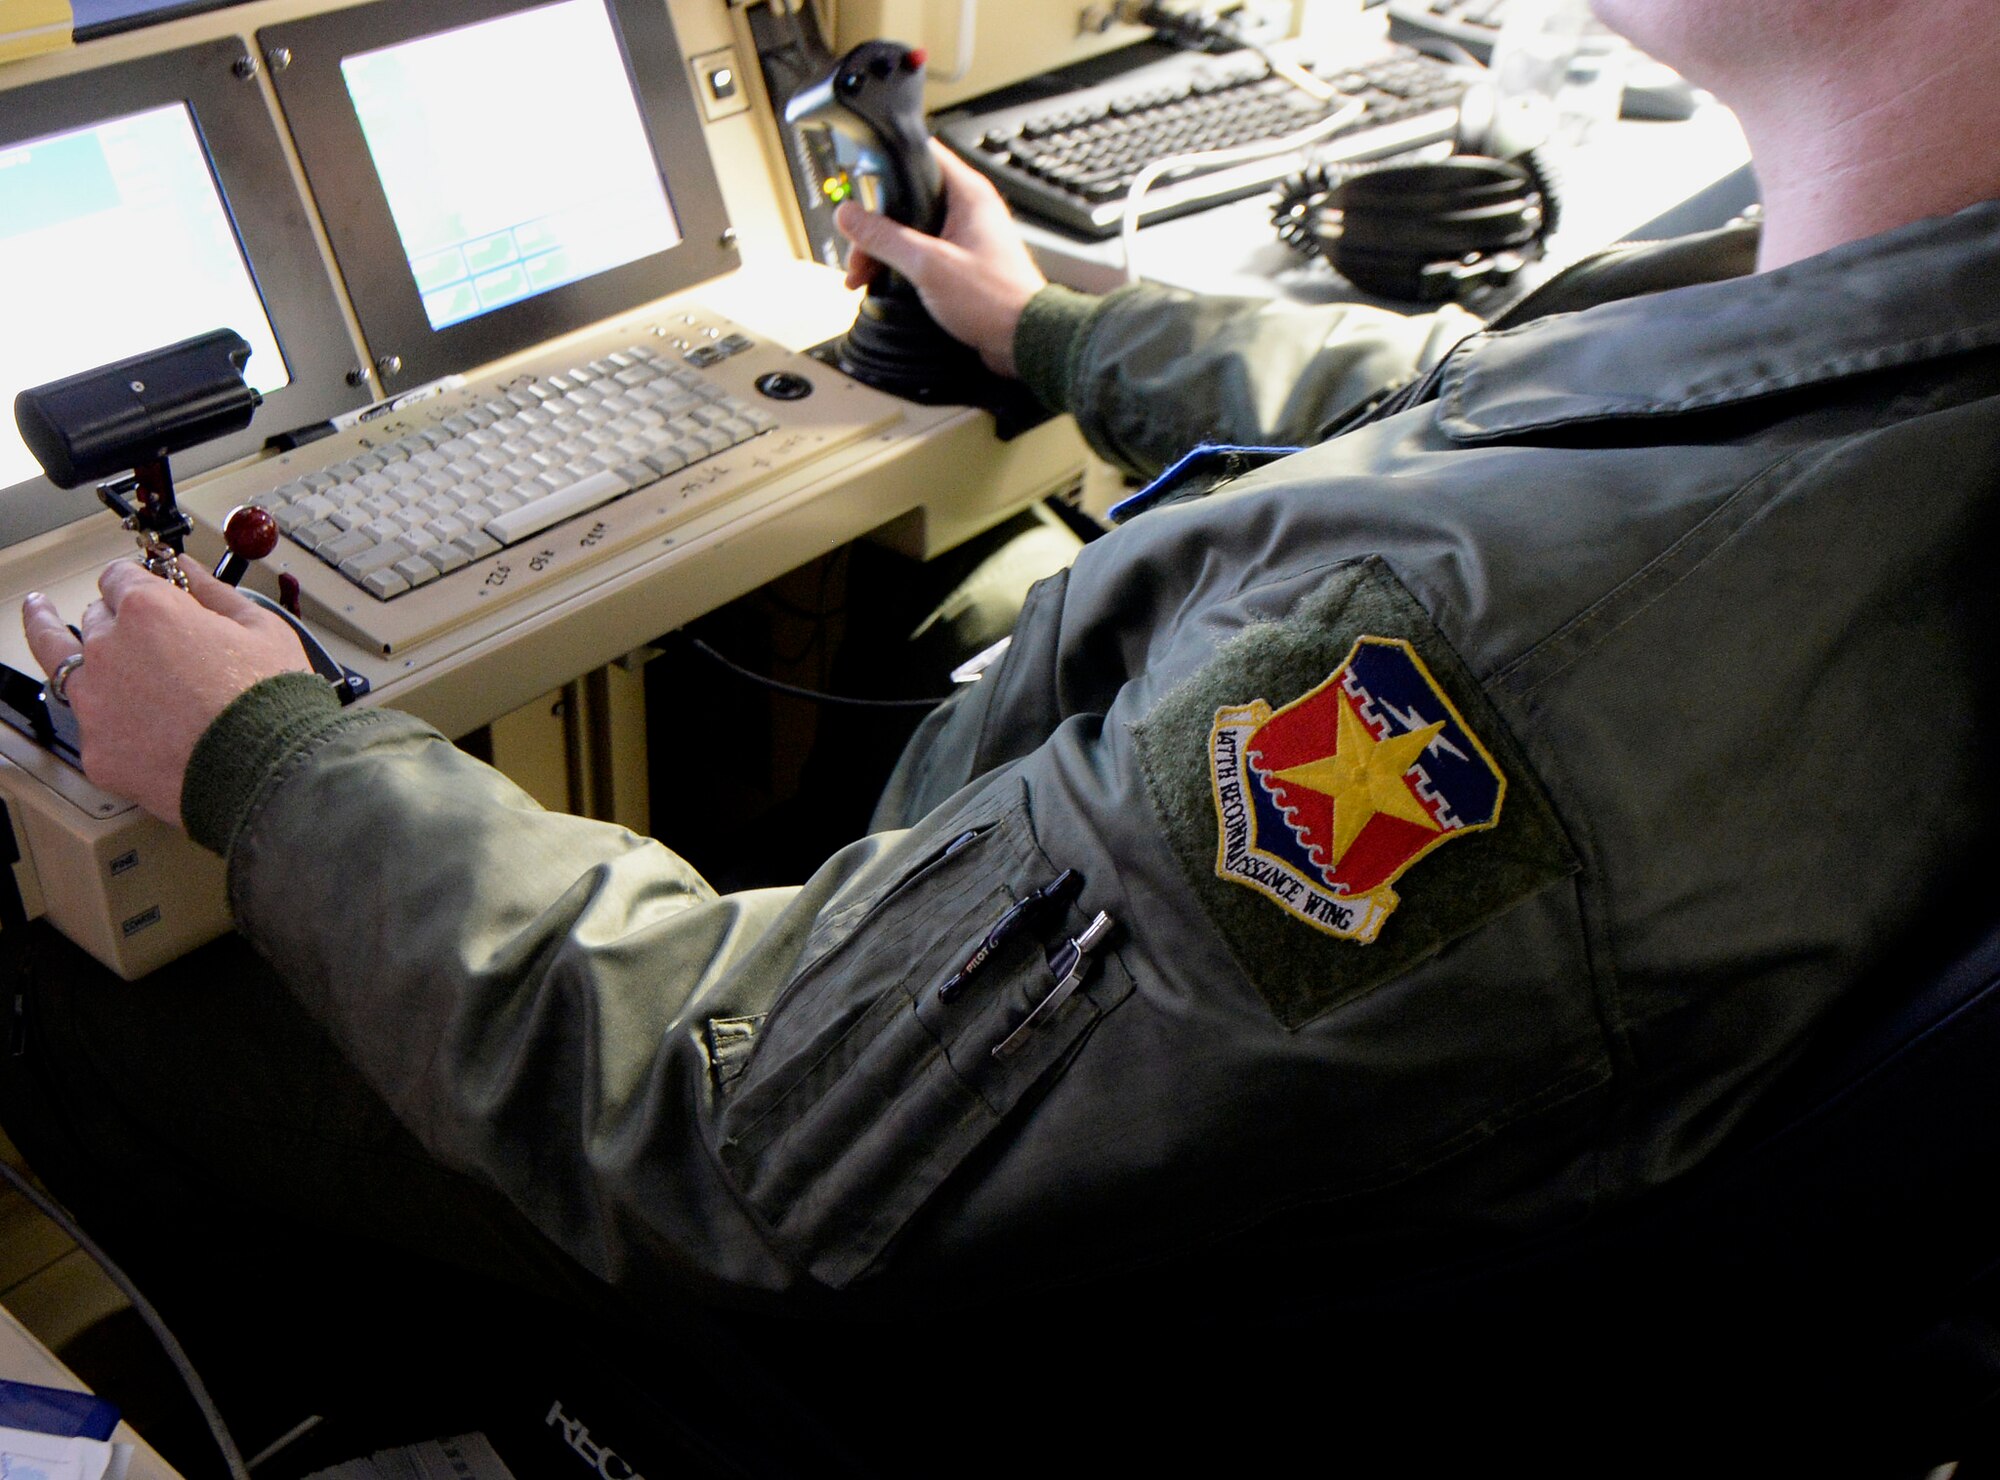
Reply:
[[[1450,304],[1398,314],[1152,284],[1104,298],[1052,286],[1022,314],[1014,362],[1100,456],[1150,476],[1200,442],[1320,442],[1478,328]]]

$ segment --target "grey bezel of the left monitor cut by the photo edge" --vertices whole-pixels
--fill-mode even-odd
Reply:
[[[186,104],[194,120],[290,382],[264,398],[246,430],[176,452],[178,476],[236,462],[274,434],[368,402],[354,338],[292,178],[278,120],[254,70],[238,74],[248,54],[242,38],[222,38],[0,90],[0,148],[174,104]],[[12,418],[12,392],[4,400],[0,414]],[[102,508],[94,488],[64,490],[48,478],[10,484],[0,488],[0,548]]]

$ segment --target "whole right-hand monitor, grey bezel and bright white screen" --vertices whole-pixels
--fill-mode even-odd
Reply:
[[[258,32],[386,390],[736,266],[660,0],[376,0]]]

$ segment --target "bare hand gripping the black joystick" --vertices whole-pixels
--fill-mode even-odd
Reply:
[[[992,182],[936,140],[930,148],[944,172],[944,230],[924,236],[852,200],[842,204],[834,226],[854,242],[848,286],[860,288],[878,264],[894,268],[952,338],[978,350],[990,370],[1012,376],[1014,326],[1048,278]]]

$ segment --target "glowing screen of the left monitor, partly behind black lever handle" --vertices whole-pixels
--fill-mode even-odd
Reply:
[[[290,384],[178,102],[0,148],[0,386],[14,390],[216,328],[250,342],[244,378],[256,390]],[[0,486],[38,472],[8,416]]]

